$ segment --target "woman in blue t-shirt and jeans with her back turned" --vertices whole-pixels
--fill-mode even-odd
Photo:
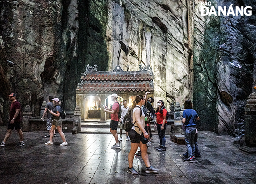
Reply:
[[[196,121],[199,117],[193,109],[190,99],[184,103],[184,111],[182,115],[182,123],[185,124],[185,145],[187,147],[188,158],[184,158],[183,162],[193,162],[195,159],[195,131]]]

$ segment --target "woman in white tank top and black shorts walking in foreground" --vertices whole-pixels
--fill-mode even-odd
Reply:
[[[157,172],[158,169],[155,169],[150,165],[149,156],[147,154],[147,139],[149,139],[148,133],[145,131],[145,114],[141,109],[141,106],[145,104],[145,99],[147,93],[142,95],[137,95],[135,97],[136,106],[133,108],[133,127],[129,131],[129,136],[131,139],[131,150],[128,154],[129,167],[127,172],[130,174],[139,174],[137,170],[133,168],[133,158],[134,154],[137,152],[138,146],[141,149],[142,159],[146,165],[146,173]]]

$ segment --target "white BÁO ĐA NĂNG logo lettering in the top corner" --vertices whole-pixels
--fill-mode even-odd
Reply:
[[[235,9],[232,7],[232,4],[229,7],[218,7],[218,14],[216,13],[215,7],[211,4],[211,2],[201,2],[201,16],[251,16],[252,15],[252,7],[238,7]],[[211,6],[211,8],[209,8]]]

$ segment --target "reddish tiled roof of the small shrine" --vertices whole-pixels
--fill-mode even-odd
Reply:
[[[151,70],[144,71],[86,71],[86,75],[81,77],[77,91],[154,91],[153,73]]]

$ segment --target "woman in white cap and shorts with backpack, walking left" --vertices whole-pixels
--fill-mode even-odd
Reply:
[[[55,127],[57,127],[57,130],[61,136],[62,139],[62,143],[60,144],[60,146],[67,146],[67,141],[65,138],[64,133],[62,132],[62,119],[61,119],[61,106],[60,106],[60,101],[58,98],[54,98],[53,100],[53,104],[54,104],[54,110],[50,110],[49,112],[53,115],[52,116],[52,128],[50,131],[50,141],[48,141],[47,143],[45,143],[45,145],[53,145],[53,141],[52,138],[54,136],[54,129]]]

